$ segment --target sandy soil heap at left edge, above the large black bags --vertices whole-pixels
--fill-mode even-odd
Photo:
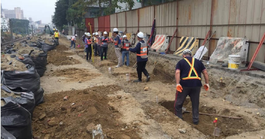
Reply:
[[[16,60],[15,58],[11,58],[11,55],[15,54],[2,54],[1,55],[1,70],[17,70],[17,71],[25,71],[27,70],[26,65],[22,62]],[[16,54],[23,58],[22,56]]]

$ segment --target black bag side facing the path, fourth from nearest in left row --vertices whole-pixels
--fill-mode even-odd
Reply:
[[[40,77],[43,76],[47,65],[47,59],[45,57],[31,57],[32,62],[35,64],[35,68]]]

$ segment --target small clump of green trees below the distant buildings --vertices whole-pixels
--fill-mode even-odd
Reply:
[[[28,33],[28,20],[24,19],[11,19],[13,32],[16,34],[26,34]]]

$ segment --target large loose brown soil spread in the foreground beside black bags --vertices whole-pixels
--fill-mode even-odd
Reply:
[[[111,100],[107,94],[118,90],[118,86],[97,86],[45,95],[45,102],[34,110],[33,136],[90,139],[87,126],[101,124],[105,138],[140,138],[135,133],[137,129],[126,128],[126,124],[117,120],[119,111],[108,105]]]

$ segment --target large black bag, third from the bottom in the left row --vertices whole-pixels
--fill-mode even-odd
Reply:
[[[44,90],[40,87],[40,75],[34,67],[26,71],[1,70],[1,83],[10,87],[22,87],[34,93],[35,105],[43,102]]]

